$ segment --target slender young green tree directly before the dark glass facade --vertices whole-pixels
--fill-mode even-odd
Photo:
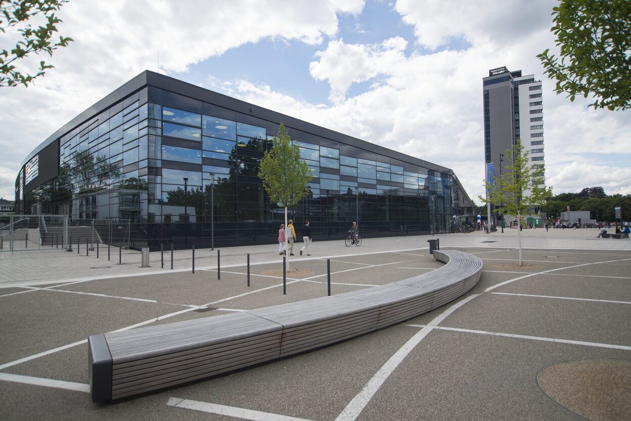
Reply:
[[[285,206],[286,227],[287,207],[296,205],[305,196],[313,176],[300,158],[300,146],[292,143],[283,123],[274,136],[272,149],[266,151],[261,160],[259,177],[271,201]]]

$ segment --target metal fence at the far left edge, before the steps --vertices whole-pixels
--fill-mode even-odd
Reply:
[[[54,250],[68,247],[68,216],[0,216],[0,252]]]

